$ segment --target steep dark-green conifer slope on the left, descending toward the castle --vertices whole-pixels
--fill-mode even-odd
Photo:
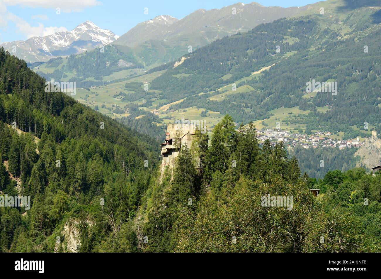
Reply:
[[[0,207],[0,251],[53,252],[67,222],[80,226],[82,252],[121,245],[111,234],[133,233],[158,142],[44,83],[0,48],[0,192],[31,197],[30,210]]]

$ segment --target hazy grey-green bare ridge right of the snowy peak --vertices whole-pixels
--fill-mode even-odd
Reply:
[[[255,2],[235,3],[221,9],[197,10],[181,20],[157,16],[138,24],[114,44],[132,47],[146,66],[158,65],[186,53],[189,45],[195,50],[218,38],[248,31],[258,24],[295,16],[309,7],[281,8],[265,7]]]

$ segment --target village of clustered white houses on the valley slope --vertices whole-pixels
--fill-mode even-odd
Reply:
[[[359,148],[363,143],[360,143],[359,138],[357,140],[337,140],[330,138],[332,135],[330,132],[316,132],[311,136],[293,133],[289,131],[282,130],[280,128],[267,129],[257,131],[259,141],[263,142],[269,139],[271,144],[274,146],[275,143],[283,141],[283,143],[293,148],[297,145],[301,145],[304,148],[317,148],[318,146],[338,147],[339,149],[344,148]]]

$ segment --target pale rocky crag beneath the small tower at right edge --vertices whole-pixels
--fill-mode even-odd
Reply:
[[[360,156],[361,160],[358,165],[363,163],[368,168],[381,165],[381,139],[377,137],[377,133],[372,133],[370,138],[365,139],[355,156]]]

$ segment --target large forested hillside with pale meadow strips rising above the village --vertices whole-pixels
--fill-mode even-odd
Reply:
[[[334,2],[316,4],[317,10],[308,16],[279,19],[217,40],[168,69],[150,88],[162,91],[159,97],[167,103],[186,97],[168,112],[197,106],[229,113],[246,124],[268,118],[270,110],[298,106],[310,111],[294,119],[307,131],[344,131],[349,136],[354,131],[349,126],[378,125],[380,8],[348,5],[334,10],[330,6]],[[325,14],[319,14],[319,5],[327,5]],[[337,82],[337,95],[306,92],[311,80]],[[229,91],[233,84],[236,92]],[[249,89],[239,90],[244,85]],[[213,98],[227,91],[223,98]]]

